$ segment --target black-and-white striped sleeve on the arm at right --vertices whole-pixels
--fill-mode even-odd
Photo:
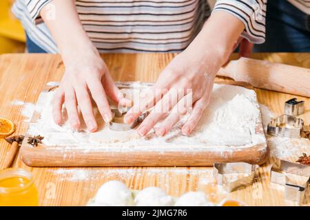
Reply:
[[[265,42],[267,0],[218,0],[214,11],[221,10],[234,15],[245,24],[242,36],[251,43]]]

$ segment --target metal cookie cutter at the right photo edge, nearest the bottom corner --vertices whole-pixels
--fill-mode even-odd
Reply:
[[[289,174],[298,176],[298,182],[301,182],[301,184],[293,183]],[[271,167],[270,181],[285,186],[285,199],[297,201],[301,204],[307,197],[307,188],[310,183],[310,166],[280,159]]]

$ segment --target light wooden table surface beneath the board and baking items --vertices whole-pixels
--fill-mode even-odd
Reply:
[[[114,80],[155,81],[161,70],[175,54],[104,54]],[[310,68],[310,54],[253,54],[254,58]],[[24,134],[28,122],[23,105],[35,103],[44,85],[59,81],[64,67],[58,55],[51,54],[3,54],[0,56],[0,117],[8,118],[17,125],[15,134]],[[296,76],[298,77],[298,76]],[[309,83],[310,85],[310,83]],[[256,89],[258,101],[273,113],[283,113],[283,105],[289,98],[297,97],[274,91]],[[299,98],[299,97],[298,97]],[[306,124],[310,123],[310,103],[306,100],[305,113],[301,115]],[[0,167],[10,145],[0,140]],[[298,154],[310,153],[310,148],[294,149]],[[296,160],[298,155],[288,158]],[[179,196],[189,190],[203,190],[211,201],[225,197],[238,199],[250,206],[293,206],[283,199],[281,186],[269,183],[269,169],[274,158],[261,166],[259,175],[252,186],[226,193],[214,183],[209,167],[169,167],[169,168],[31,168],[25,166],[19,156],[14,167],[30,170],[39,189],[41,206],[85,206],[94,197],[96,190],[105,181],[118,179],[132,189],[158,186],[169,195]],[[309,205],[309,203],[308,203]]]

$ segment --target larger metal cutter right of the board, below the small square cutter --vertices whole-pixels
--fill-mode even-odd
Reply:
[[[300,137],[304,121],[291,115],[280,115],[269,122],[267,133],[279,137]]]

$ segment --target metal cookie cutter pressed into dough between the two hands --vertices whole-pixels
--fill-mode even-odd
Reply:
[[[124,109],[111,109],[113,114],[113,119],[109,123],[110,129],[113,131],[129,131],[130,129],[134,129],[140,122],[147,117],[148,111],[141,114],[136,120],[134,120],[131,124],[126,124],[123,122],[123,115],[127,113],[130,108]]]

